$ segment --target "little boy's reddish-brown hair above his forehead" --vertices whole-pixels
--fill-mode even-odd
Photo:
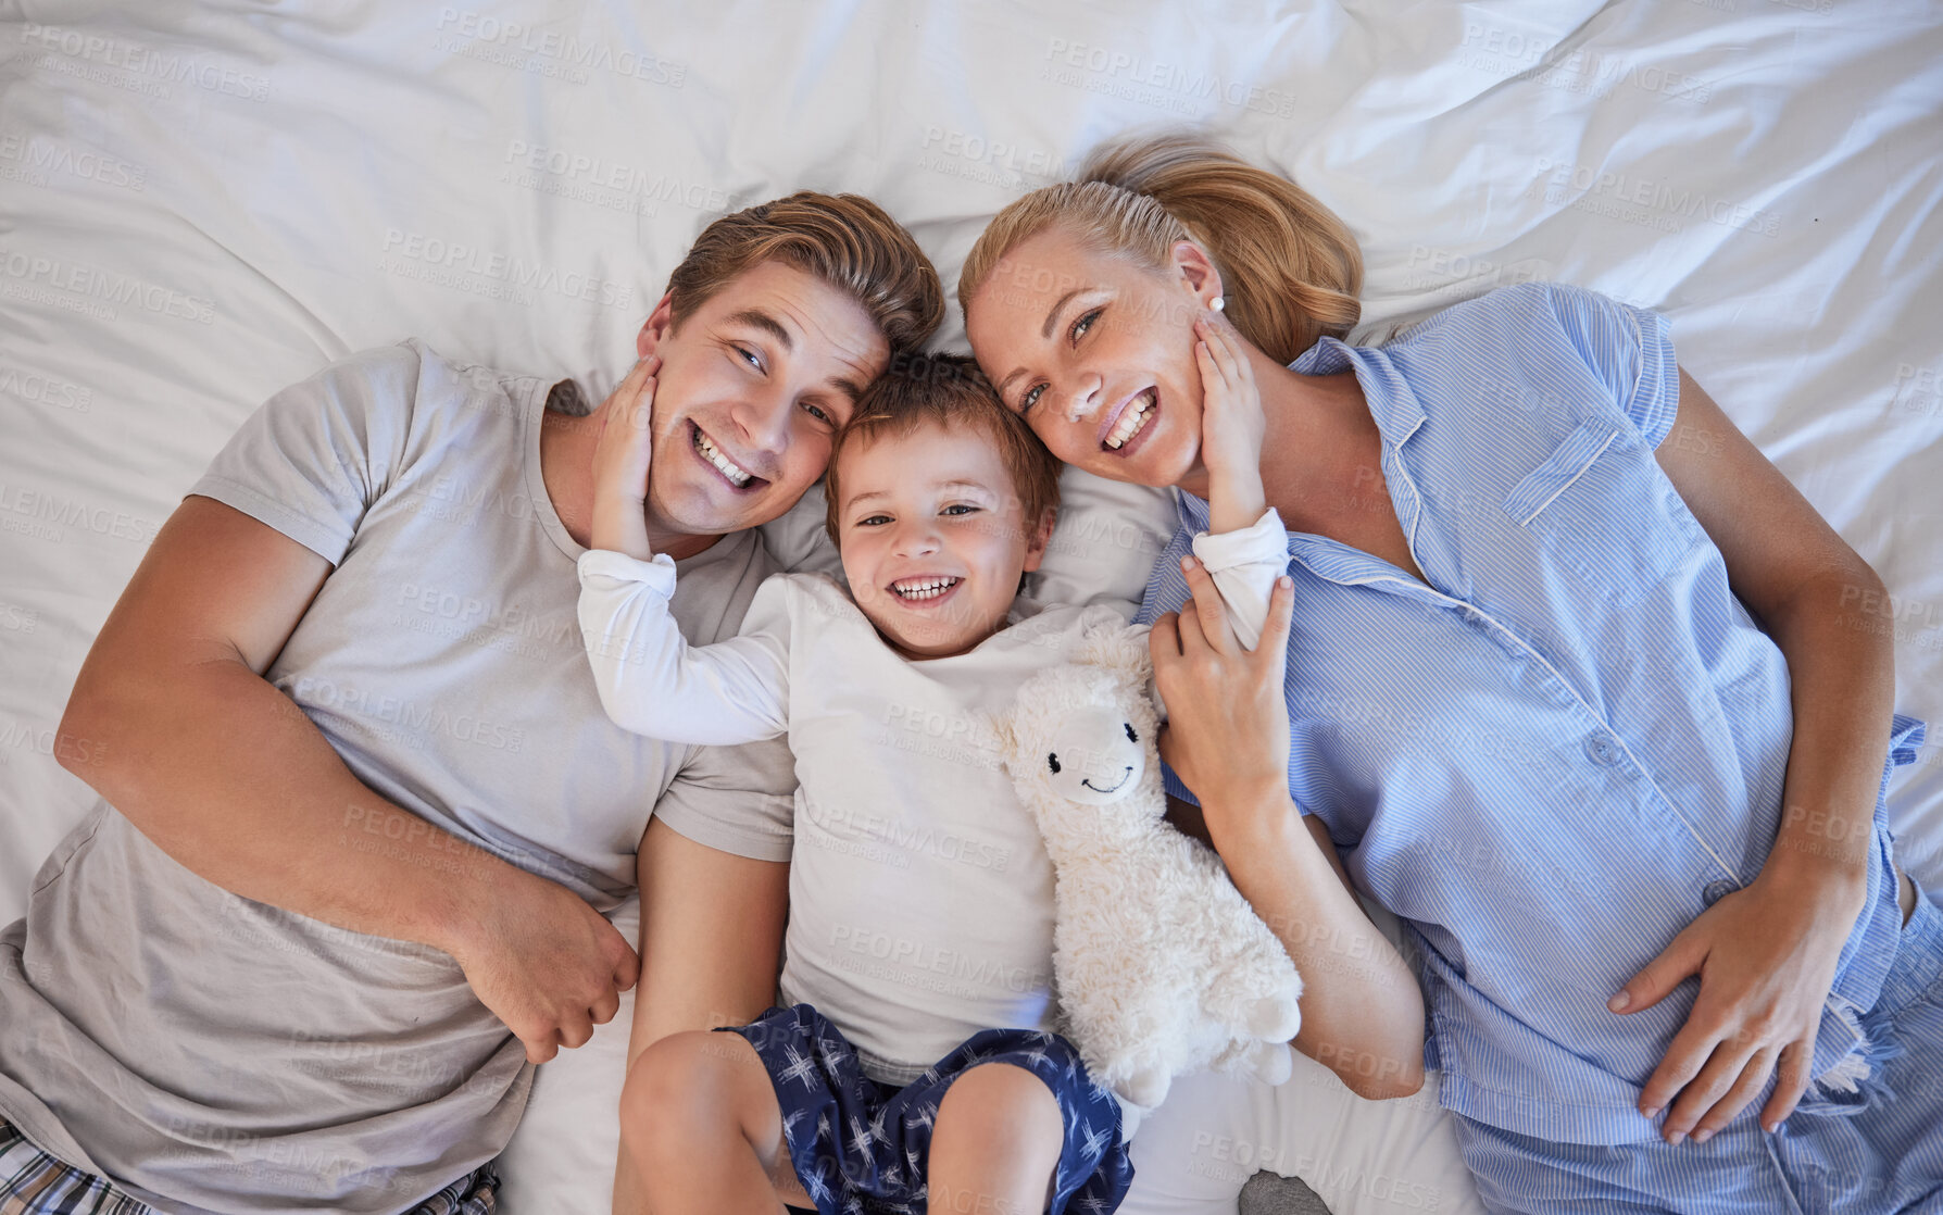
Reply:
[[[830,472],[824,474],[824,529],[837,546],[837,511],[843,488],[837,465],[857,443],[907,435],[937,424],[983,434],[999,449],[999,461],[1012,474],[1012,494],[1020,502],[1020,525],[1034,535],[1045,511],[1059,509],[1059,457],[1040,443],[1026,420],[1005,408],[999,393],[962,354],[894,354],[890,367],[865,389],[857,412],[830,445]]]

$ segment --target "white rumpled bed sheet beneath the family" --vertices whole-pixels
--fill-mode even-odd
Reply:
[[[1939,25],[1914,0],[0,2],[0,920],[87,805],[54,725],[93,634],[266,395],[406,334],[606,389],[694,233],[797,187],[880,200],[950,284],[999,206],[1144,124],[1205,124],[1343,214],[1364,334],[1527,278],[1669,313],[1889,583],[1852,622],[1894,630],[1898,706],[1939,719]],[[1049,591],[1125,595],[1152,503],[1076,523],[1119,556]],[[1943,745],[1892,815],[1943,883]],[[598,1159],[591,1110],[532,1155]],[[509,1209],[558,1198],[515,1180]]]

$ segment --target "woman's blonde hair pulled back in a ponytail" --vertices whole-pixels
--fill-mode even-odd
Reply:
[[[1005,257],[1053,226],[1156,270],[1176,241],[1193,241],[1220,270],[1228,319],[1278,364],[1321,334],[1345,336],[1362,313],[1362,253],[1343,220],[1296,183],[1203,136],[1104,144],[1078,181],[1006,206],[966,257],[958,307],[970,315]]]

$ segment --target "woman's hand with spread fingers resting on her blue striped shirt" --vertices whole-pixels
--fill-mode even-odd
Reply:
[[[1673,1102],[1661,1126],[1667,1143],[1688,1133],[1704,1143],[1776,1071],[1760,1126],[1772,1133],[1795,1110],[1811,1079],[1823,1001],[1861,902],[1848,886],[1803,892],[1756,877],[1702,912],[1611,999],[1609,1009],[1632,1015],[1688,976],[1700,978],[1687,1024],[1640,1091],[1648,1118]]]

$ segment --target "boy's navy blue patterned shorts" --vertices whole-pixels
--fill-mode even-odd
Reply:
[[[863,1073],[857,1050],[812,1005],[769,1009],[721,1030],[748,1038],[783,1108],[783,1139],[818,1215],[917,1215],[925,1209],[931,1124],[958,1075],[1014,1063],[1059,1100],[1067,1141],[1053,1174],[1051,1215],[1106,1215],[1133,1184],[1119,1139],[1119,1102],[1086,1075],[1078,1050],[1040,1030],[979,1030],[898,1089]]]

